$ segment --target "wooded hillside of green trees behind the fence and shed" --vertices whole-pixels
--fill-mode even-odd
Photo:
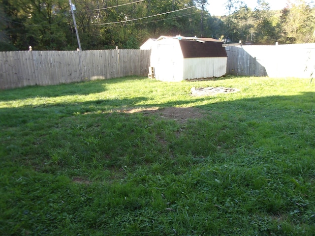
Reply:
[[[315,7],[288,1],[271,11],[265,0],[251,9],[226,0],[227,14],[212,16],[207,0],[72,0],[83,50],[138,49],[160,35],[213,37],[250,44],[315,40]],[[0,51],[76,50],[68,0],[0,0]]]

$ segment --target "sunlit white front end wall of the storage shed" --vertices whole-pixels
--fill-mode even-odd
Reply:
[[[161,81],[183,80],[183,54],[177,39],[156,41],[151,48],[151,66]]]

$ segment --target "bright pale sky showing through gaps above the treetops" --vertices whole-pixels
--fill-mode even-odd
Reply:
[[[257,0],[243,0],[252,10],[257,6]],[[212,16],[221,16],[226,14],[224,7],[225,0],[208,0],[207,10]],[[286,6],[287,0],[266,0],[269,3],[270,10],[281,10]]]

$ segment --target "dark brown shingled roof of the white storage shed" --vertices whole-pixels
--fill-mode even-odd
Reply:
[[[222,58],[227,57],[223,42],[213,38],[196,40],[179,40],[184,58]]]

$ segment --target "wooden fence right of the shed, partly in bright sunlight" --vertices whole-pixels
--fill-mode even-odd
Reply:
[[[226,47],[229,75],[298,77],[315,76],[315,43],[244,45]]]

